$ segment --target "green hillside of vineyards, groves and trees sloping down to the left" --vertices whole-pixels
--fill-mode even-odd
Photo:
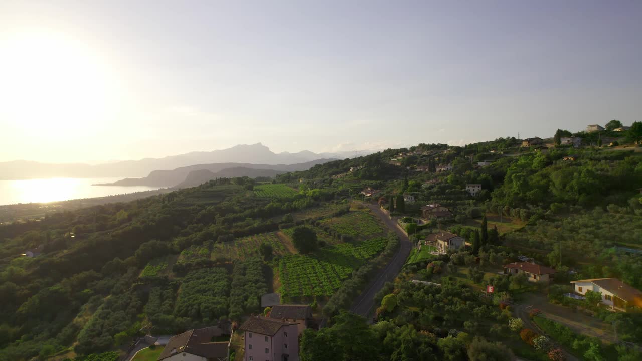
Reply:
[[[478,165],[482,161],[490,163]],[[425,204],[441,204],[452,218],[403,223],[412,240],[447,229],[472,244],[444,255],[413,251],[397,283],[384,286],[375,299],[382,306],[372,310],[373,317],[390,323],[363,321],[361,331],[341,331],[373,337],[368,344],[383,345],[376,352],[384,358],[415,349],[397,344],[403,339],[446,358],[455,352],[443,344],[455,342],[449,335],[477,332],[519,357],[542,360],[544,354],[508,330],[508,319],[519,314],[477,295],[487,284],[503,300],[540,292],[498,275],[503,263],[519,255],[559,270],[551,294],[566,290],[569,279],[582,278],[618,277],[642,288],[641,258],[617,248],[642,250],[638,152],[542,152],[514,138],[465,147],[418,145],[278,174],[276,184],[229,174],[284,170],[207,166],[176,172],[188,181],[185,186],[199,184],[192,188],[0,225],[0,359],[44,360],[71,350],[89,355],[117,350],[141,329],[166,335],[218,319],[242,321],[262,311],[259,297],[266,292],[279,292],[287,303],[318,303],[318,317],[338,315],[332,319],[337,330],[358,325],[359,319],[345,321],[352,316],[342,310],[397,247],[396,237],[361,202],[378,203],[403,222],[419,218]],[[446,166],[451,168],[438,171]],[[482,191],[473,196],[466,184],[480,184]],[[368,187],[381,193],[360,193]],[[297,226],[316,234],[318,249],[298,251]],[[40,256],[19,256],[39,245]],[[445,292],[454,303],[429,302],[429,288],[409,286],[410,279],[442,284],[429,294]],[[396,306],[385,306],[389,295],[398,295]],[[593,312],[607,324],[619,322],[623,339],[642,342],[634,313]],[[388,330],[391,324],[404,335],[386,338],[397,332]],[[313,352],[310,345],[317,341],[306,342],[301,352]],[[457,342],[462,344],[456,348],[473,347],[465,336]],[[569,350],[583,355],[590,346],[578,345],[580,351]],[[605,360],[629,352],[595,347]]]

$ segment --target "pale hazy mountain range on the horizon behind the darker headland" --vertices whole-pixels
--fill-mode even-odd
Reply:
[[[345,159],[352,152],[316,154],[304,150],[298,153],[274,153],[265,145],[236,145],[232,148],[212,152],[190,152],[162,158],[145,158],[139,161],[119,161],[108,164],[51,164],[33,161],[10,161],[0,163],[0,180],[35,179],[51,177],[101,178],[101,177],[145,177],[155,170],[175,170],[194,164],[248,163],[248,164],[300,164],[318,159]],[[360,153],[363,155],[363,152]],[[243,165],[234,164],[228,168]],[[248,167],[245,167],[248,168]],[[225,168],[216,170],[220,172]],[[276,168],[273,168],[277,170]],[[210,170],[211,172],[214,172]],[[215,172],[214,172],[215,173]],[[183,179],[178,180],[181,182]]]

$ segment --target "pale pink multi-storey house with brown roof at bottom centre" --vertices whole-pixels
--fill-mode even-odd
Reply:
[[[297,324],[252,316],[243,322],[245,361],[299,361]]]

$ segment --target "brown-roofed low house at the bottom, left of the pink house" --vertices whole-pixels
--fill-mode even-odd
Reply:
[[[189,330],[169,339],[158,361],[227,361],[229,341],[213,342],[225,331],[218,326]]]

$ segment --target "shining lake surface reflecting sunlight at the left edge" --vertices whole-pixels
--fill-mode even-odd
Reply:
[[[48,178],[0,180],[0,205],[54,202],[77,198],[106,197],[160,187],[92,186],[96,183],[116,182],[121,178]]]

